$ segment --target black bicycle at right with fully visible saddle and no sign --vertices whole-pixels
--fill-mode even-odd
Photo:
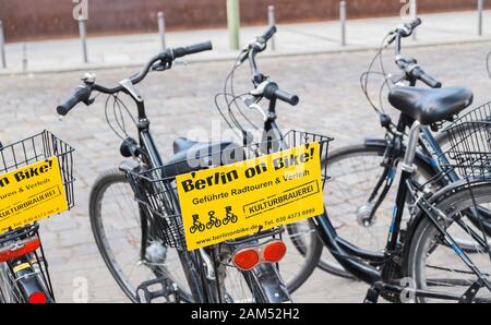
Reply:
[[[475,119],[469,124],[469,117],[465,116],[446,129],[450,147],[442,153],[428,128],[438,130],[443,121],[453,120],[471,104],[472,94],[466,88],[439,89],[441,84],[435,79],[426,74],[415,60],[400,55],[400,39],[409,36],[419,24],[416,20],[391,33],[390,43],[396,43],[396,62],[405,72],[400,82],[408,81],[410,85],[398,85],[390,91],[390,103],[402,112],[398,122],[392,129],[387,117],[381,116],[387,137],[371,141],[370,146],[359,151],[346,152],[346,156],[356,157],[354,161],[361,170],[367,164],[363,156],[375,156],[380,162],[372,166],[382,171],[373,171],[379,180],[367,183],[359,183],[346,173],[346,179],[351,181],[351,193],[358,191],[361,200],[363,195],[369,197],[367,206],[358,207],[352,222],[356,226],[351,227],[373,225],[378,208],[396,182],[397,167],[403,170],[391,222],[382,227],[390,232],[385,248],[370,249],[363,242],[352,243],[339,234],[337,229],[342,226],[337,220],[332,221],[327,214],[314,218],[314,224],[337,263],[356,278],[372,285],[367,302],[375,302],[380,294],[390,301],[488,301],[489,213],[472,189],[478,182],[486,183],[486,172],[476,172],[486,162],[479,155],[472,156],[482,155],[482,147],[476,148],[482,144],[476,143],[472,136],[482,134],[476,130],[476,124],[486,124],[482,121],[487,120],[487,115],[478,108],[480,120]],[[415,87],[416,81],[436,88]],[[409,140],[405,145],[407,129]],[[330,166],[332,162],[331,159]],[[438,193],[432,195],[434,191]],[[336,201],[332,197],[330,202]],[[327,213],[330,210],[327,206]],[[403,227],[404,220],[407,227]],[[482,288],[484,298],[477,297]]]

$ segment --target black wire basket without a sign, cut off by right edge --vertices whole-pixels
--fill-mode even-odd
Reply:
[[[443,132],[450,147],[440,157],[442,166],[454,168],[462,178],[491,176],[491,103],[469,111]]]

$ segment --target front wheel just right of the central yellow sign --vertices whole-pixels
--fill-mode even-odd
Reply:
[[[395,177],[394,183],[371,217],[376,200],[369,198],[384,173],[382,162],[385,151],[385,144],[351,145],[334,151],[327,159],[327,174],[331,177],[324,189],[327,215],[340,238],[373,253],[385,248],[398,188]],[[429,179],[432,171],[428,166],[420,159],[416,159],[415,164],[418,166],[419,177]],[[379,194],[382,189],[383,186]],[[319,266],[330,274],[351,277],[327,250],[322,253]]]

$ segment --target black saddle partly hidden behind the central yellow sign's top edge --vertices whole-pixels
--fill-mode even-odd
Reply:
[[[173,141],[175,155],[164,166],[165,177],[243,160],[243,149],[231,141],[196,142],[185,137]]]

